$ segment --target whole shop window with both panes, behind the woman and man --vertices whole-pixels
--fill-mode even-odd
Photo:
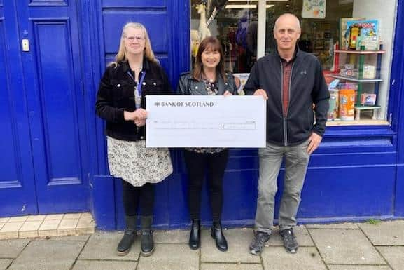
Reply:
[[[277,17],[286,12],[297,15],[302,27],[298,46],[316,55],[330,84],[328,125],[389,123],[396,0],[192,0],[191,6],[192,55],[204,29],[209,29],[223,45],[226,69],[242,82],[256,59],[275,49],[272,31]],[[260,34],[258,21],[265,23]],[[265,44],[260,45],[258,35]]]

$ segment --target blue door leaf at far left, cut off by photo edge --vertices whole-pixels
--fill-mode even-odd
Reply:
[[[38,211],[15,12],[0,0],[0,217]]]

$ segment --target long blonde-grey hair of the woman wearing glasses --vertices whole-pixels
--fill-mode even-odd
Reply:
[[[115,55],[115,61],[110,62],[109,66],[117,67],[118,62],[127,61],[126,50],[125,50],[125,37],[127,34],[127,29],[129,29],[129,28],[141,29],[141,31],[144,33],[144,39],[145,39],[144,55],[146,56],[146,58],[148,60],[157,62],[158,60],[155,58],[153,49],[151,48],[151,42],[150,42],[150,39],[148,38],[148,33],[146,30],[146,27],[144,27],[144,25],[142,25],[139,22],[127,22],[127,24],[124,25],[122,28],[122,34],[120,34],[119,49],[118,49],[118,53]]]

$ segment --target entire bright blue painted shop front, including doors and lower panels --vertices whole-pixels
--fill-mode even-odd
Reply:
[[[176,88],[190,66],[189,8],[183,0],[0,0],[0,217],[91,211],[99,229],[123,227],[120,181],[108,173],[104,123],[95,116],[97,84],[122,25],[138,21]],[[326,130],[309,163],[299,222],[404,217],[403,37],[398,1],[391,125]],[[181,151],[171,153],[174,173],[156,190],[158,228],[189,224],[185,166]],[[257,150],[231,149],[223,224],[253,224],[257,181]],[[206,189],[202,205],[208,222]]]

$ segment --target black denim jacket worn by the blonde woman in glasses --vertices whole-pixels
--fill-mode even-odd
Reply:
[[[165,71],[157,62],[144,58],[143,72],[146,72],[141,86],[141,108],[146,109],[146,95],[172,95],[172,89]],[[146,127],[138,128],[134,121],[125,121],[123,112],[134,112],[134,80],[127,74],[127,62],[117,67],[109,66],[99,83],[95,109],[97,115],[106,120],[105,133],[118,140],[146,140]]]

